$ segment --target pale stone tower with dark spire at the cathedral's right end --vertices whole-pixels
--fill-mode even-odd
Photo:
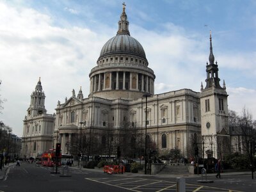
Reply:
[[[206,64],[204,88],[201,83],[200,108],[202,141],[204,143],[205,157],[221,158],[225,149],[225,141],[228,140],[228,95],[225,81],[220,86],[217,61],[214,63],[212,52],[212,36],[210,32],[209,63]],[[224,143],[223,143],[224,142]]]

